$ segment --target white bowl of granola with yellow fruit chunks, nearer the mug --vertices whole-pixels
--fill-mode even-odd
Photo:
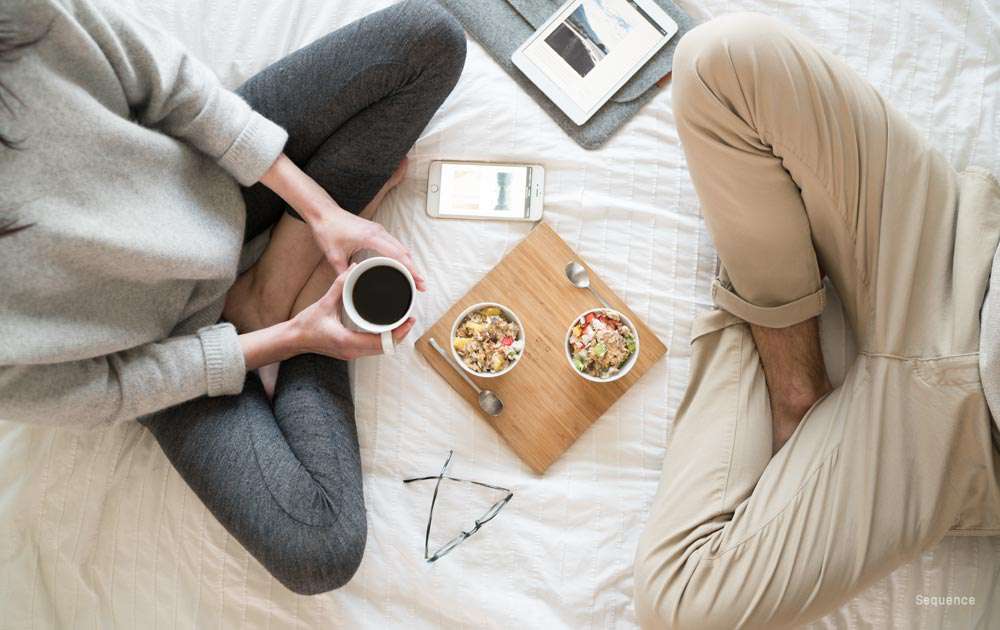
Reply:
[[[524,326],[514,311],[480,302],[462,311],[451,327],[451,353],[469,374],[494,378],[524,356]]]

